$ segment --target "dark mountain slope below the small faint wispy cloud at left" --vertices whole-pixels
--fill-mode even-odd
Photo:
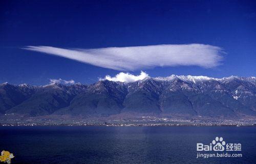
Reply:
[[[70,101],[80,92],[86,89],[86,86],[77,84],[64,86],[60,84],[51,84],[37,89],[29,99],[11,108],[7,114],[29,114],[30,116],[49,115],[70,105]]]

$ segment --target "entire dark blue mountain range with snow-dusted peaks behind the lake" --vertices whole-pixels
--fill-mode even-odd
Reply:
[[[146,77],[133,83],[0,85],[0,115],[102,117],[128,113],[256,117],[256,77]]]

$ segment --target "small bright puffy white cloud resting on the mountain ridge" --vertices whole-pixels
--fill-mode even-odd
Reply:
[[[105,78],[100,78],[99,80],[110,80],[110,81],[120,81],[125,83],[132,83],[134,81],[143,80],[144,78],[148,77],[148,74],[141,71],[140,75],[133,75],[130,73],[120,72],[115,77],[111,77],[110,75],[106,75]]]

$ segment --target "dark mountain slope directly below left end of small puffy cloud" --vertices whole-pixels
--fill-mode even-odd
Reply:
[[[120,113],[126,86],[109,80],[99,81],[76,96],[70,106],[55,114],[109,116]]]

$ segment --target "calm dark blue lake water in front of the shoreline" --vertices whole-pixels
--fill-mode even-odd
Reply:
[[[216,136],[243,157],[197,159],[196,143]],[[12,163],[255,163],[256,127],[0,127],[0,149]]]

